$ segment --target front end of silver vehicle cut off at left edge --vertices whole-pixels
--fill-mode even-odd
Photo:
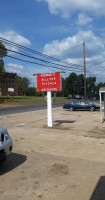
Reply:
[[[13,142],[6,128],[0,127],[0,164],[12,152]]]

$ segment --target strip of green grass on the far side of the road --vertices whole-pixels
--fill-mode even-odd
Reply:
[[[70,99],[65,97],[56,97],[53,100],[53,103],[65,103],[65,102],[70,102]],[[6,105],[34,105],[34,104],[46,104],[46,100],[43,97],[6,96],[6,97],[0,97],[0,103]]]

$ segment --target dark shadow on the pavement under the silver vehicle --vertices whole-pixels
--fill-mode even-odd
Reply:
[[[0,166],[0,176],[15,169],[27,160],[27,156],[17,153],[11,153],[7,160]]]

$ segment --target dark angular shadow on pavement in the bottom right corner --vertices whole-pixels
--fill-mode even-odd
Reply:
[[[101,176],[90,200],[105,200],[105,176]]]

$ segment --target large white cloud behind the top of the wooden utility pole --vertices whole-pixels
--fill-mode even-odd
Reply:
[[[51,56],[54,55],[59,56],[59,54],[61,54],[62,52],[72,49],[78,44],[82,44],[83,41],[86,42],[86,46],[92,55],[98,53],[100,54],[101,52],[103,52],[103,50],[105,50],[103,40],[100,37],[95,36],[94,33],[89,30],[89,31],[80,31],[72,37],[67,37],[61,41],[54,40],[51,43],[46,44],[44,46],[44,53]],[[76,53],[74,54],[73,50],[72,52],[73,52],[72,54],[70,52],[70,55],[72,55],[72,57],[80,57],[80,54],[76,49],[75,52],[77,52],[77,54]]]

